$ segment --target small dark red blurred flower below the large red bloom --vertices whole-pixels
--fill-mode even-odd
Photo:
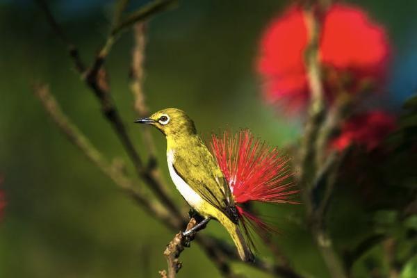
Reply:
[[[352,144],[363,145],[366,150],[375,149],[395,129],[395,117],[383,111],[357,115],[343,124],[341,134],[331,142],[331,147],[343,151]]]

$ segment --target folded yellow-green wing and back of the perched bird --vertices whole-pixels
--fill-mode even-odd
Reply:
[[[234,200],[227,181],[202,140],[198,139],[192,148],[177,147],[173,167],[179,177],[206,202],[218,208],[233,222],[238,222]]]

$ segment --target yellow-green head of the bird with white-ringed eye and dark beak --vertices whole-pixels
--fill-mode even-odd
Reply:
[[[179,136],[183,134],[195,134],[193,120],[184,111],[177,108],[167,108],[135,121],[139,124],[152,124],[165,136]]]

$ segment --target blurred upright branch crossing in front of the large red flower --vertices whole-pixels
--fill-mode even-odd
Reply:
[[[306,50],[306,67],[307,77],[311,92],[311,103],[309,107],[309,118],[307,120],[304,139],[302,141],[302,148],[300,151],[300,171],[299,182],[302,186],[302,197],[306,206],[307,220],[309,221],[309,228],[313,234],[314,239],[322,257],[327,265],[332,277],[345,278],[345,270],[333,249],[332,238],[327,234],[323,225],[324,210],[317,211],[322,199],[316,198],[312,190],[314,183],[311,179],[316,179],[316,172],[320,172],[320,165],[316,164],[316,140],[325,117],[325,101],[324,90],[322,88],[322,73],[320,69],[320,62],[318,60],[318,42],[320,34],[320,21],[318,20],[318,13],[320,7],[310,7],[305,11],[307,26],[309,27],[310,42]],[[332,177],[329,175],[326,180]],[[313,180],[314,181],[314,180]],[[327,181],[326,181],[327,182]],[[334,183],[332,181],[331,183]],[[329,194],[332,190],[329,190]],[[328,202],[328,200],[327,200]],[[326,206],[326,205],[325,205]]]

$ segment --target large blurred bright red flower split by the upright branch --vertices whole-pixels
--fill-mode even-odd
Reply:
[[[300,111],[309,100],[304,63],[308,44],[309,28],[300,6],[291,6],[272,20],[261,38],[258,71],[265,81],[265,99],[286,112]],[[332,87],[346,74],[354,80],[350,89],[361,81],[382,81],[388,57],[384,29],[371,22],[363,10],[334,4],[322,16],[319,59],[332,73],[324,76],[325,87]]]

